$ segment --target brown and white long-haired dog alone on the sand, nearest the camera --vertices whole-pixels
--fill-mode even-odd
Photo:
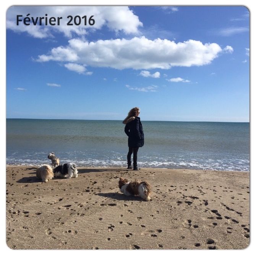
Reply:
[[[127,179],[120,178],[118,182],[120,191],[126,196],[140,196],[141,198],[149,201],[151,194],[151,185],[147,181],[128,181]]]

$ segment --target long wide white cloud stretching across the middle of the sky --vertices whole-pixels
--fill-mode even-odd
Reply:
[[[223,52],[232,52],[232,47]],[[99,40],[87,42],[71,39],[66,47],[53,48],[49,55],[39,55],[38,62],[50,60],[57,62],[75,62],[93,67],[110,67],[118,70],[126,68],[169,69],[172,66],[202,66],[210,64],[222,52],[218,44],[203,44],[188,40],[175,43],[167,39],[154,41],[143,37],[130,40]]]

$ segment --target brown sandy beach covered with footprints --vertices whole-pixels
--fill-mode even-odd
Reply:
[[[37,166],[6,166],[6,244],[19,249],[239,250],[250,244],[250,173],[78,167],[41,182]],[[146,180],[151,201],[119,177]]]

